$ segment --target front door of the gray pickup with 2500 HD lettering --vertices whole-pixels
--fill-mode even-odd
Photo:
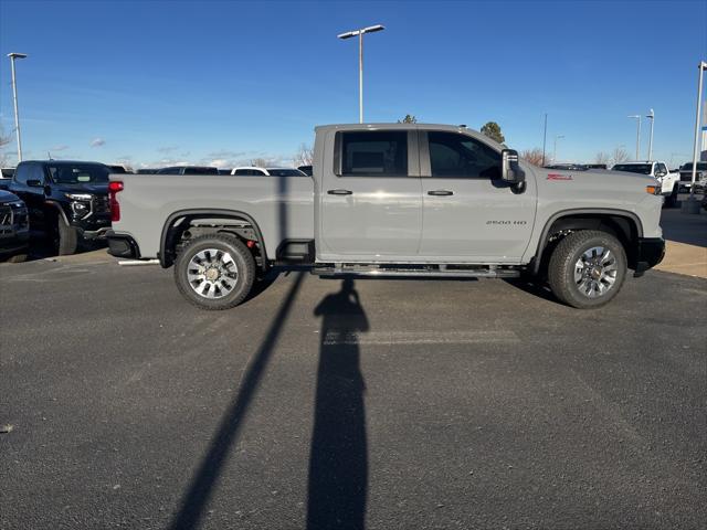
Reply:
[[[420,257],[518,263],[535,220],[532,174],[514,190],[500,180],[500,152],[461,131],[420,131]]]

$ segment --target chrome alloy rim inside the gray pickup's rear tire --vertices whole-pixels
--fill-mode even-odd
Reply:
[[[235,288],[239,268],[228,252],[205,248],[189,261],[187,279],[199,296],[223,298]]]

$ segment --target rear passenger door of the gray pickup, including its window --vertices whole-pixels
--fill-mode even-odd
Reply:
[[[414,130],[338,130],[321,167],[317,258],[414,259],[422,197]]]

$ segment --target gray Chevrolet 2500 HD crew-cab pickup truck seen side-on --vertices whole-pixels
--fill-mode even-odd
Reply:
[[[109,252],[175,267],[204,309],[274,266],[320,276],[532,277],[577,308],[663,258],[637,173],[541,169],[466,127],[316,127],[312,177],[112,174]]]

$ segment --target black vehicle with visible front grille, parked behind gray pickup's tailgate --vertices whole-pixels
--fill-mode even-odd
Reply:
[[[18,165],[10,191],[24,201],[32,231],[41,230],[60,255],[110,227],[108,174],[98,162],[31,160]]]

